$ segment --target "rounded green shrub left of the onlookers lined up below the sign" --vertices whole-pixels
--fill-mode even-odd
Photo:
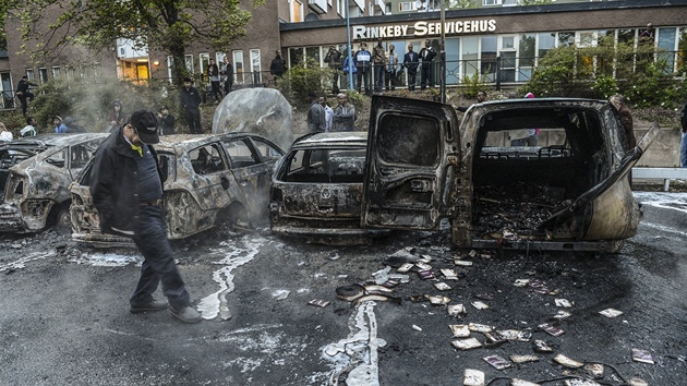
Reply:
[[[314,60],[291,67],[284,74],[284,79],[277,83],[277,88],[284,94],[287,100],[297,107],[310,105],[311,92],[317,95],[324,94],[324,85],[332,80],[329,68],[320,68]]]

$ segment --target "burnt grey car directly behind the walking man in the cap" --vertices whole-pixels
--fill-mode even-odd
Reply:
[[[155,145],[164,181],[169,239],[228,224],[251,228],[267,222],[270,176],[284,150],[251,133],[165,135]],[[71,186],[72,239],[96,246],[129,245],[103,234],[89,191],[91,167]]]

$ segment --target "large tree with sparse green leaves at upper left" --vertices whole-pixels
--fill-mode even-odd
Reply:
[[[243,3],[256,8],[265,0]],[[137,48],[170,55],[172,76],[179,83],[186,75],[186,48],[201,44],[226,49],[245,36],[245,25],[252,17],[241,8],[241,0],[25,0],[10,12],[21,21],[25,41],[41,38],[35,47],[24,48],[36,59],[55,56],[75,44],[103,51],[123,38]],[[44,20],[55,14],[59,16],[45,34]]]

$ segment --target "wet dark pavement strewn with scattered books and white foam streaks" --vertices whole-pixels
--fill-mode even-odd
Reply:
[[[197,325],[129,313],[133,250],[3,237],[0,384],[685,385],[687,194],[636,200],[617,255],[474,253],[447,230],[346,248],[206,232],[174,243]],[[393,292],[337,298],[354,284]]]

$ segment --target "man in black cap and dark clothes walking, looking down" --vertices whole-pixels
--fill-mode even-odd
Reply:
[[[136,110],[129,121],[103,142],[96,152],[91,195],[98,209],[100,230],[133,239],[144,257],[141,278],[129,300],[132,313],[161,311],[184,323],[201,322],[174,264],[167,239],[162,207],[162,177],[157,153],[159,142],[153,111]],[[157,301],[159,284],[169,300]]]

